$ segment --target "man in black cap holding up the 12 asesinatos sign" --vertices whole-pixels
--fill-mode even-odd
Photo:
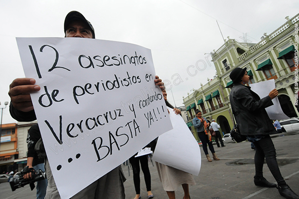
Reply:
[[[64,22],[64,32],[65,37],[95,38],[93,26],[78,11],[71,11],[67,14]],[[40,91],[40,86],[35,85],[35,82],[35,79],[32,78],[18,78],[13,80],[10,84],[8,92],[11,98],[10,114],[17,121],[27,122],[36,120],[36,115],[33,110],[33,104],[30,97],[30,94]],[[155,85],[163,88],[163,83],[157,76],[155,77],[154,82]],[[55,100],[54,97],[53,99]],[[139,149],[136,149],[136,151],[138,150]],[[47,160],[45,162],[45,168],[48,178],[48,187],[45,199],[59,199],[60,196]],[[79,171],[77,174],[73,175],[80,174]],[[85,171],[85,168],[81,168],[81,171]],[[124,181],[125,177],[123,176],[121,166],[119,166],[80,191],[78,194],[73,196],[72,199],[125,199],[123,186]]]

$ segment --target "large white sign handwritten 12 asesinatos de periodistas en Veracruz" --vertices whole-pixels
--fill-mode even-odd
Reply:
[[[17,38],[50,167],[68,199],[172,128],[149,49],[86,38]],[[70,183],[71,182],[71,183]]]

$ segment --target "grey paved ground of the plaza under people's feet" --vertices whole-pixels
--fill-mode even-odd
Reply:
[[[284,133],[272,136],[281,173],[291,189],[299,194],[299,132]],[[250,142],[234,143],[229,139],[226,147],[217,148],[214,145],[220,161],[208,162],[201,148],[202,165],[200,173],[194,176],[196,185],[190,186],[191,199],[285,199],[279,195],[276,188],[256,187],[253,183],[255,174],[254,154]],[[135,189],[133,173],[130,168],[123,166],[127,181],[125,182],[126,199],[134,199]],[[149,164],[151,174],[151,190],[154,199],[168,199],[159,180],[156,166]],[[264,177],[272,183],[275,179],[271,175],[266,162]],[[181,187],[175,192],[176,198],[183,197]],[[147,199],[147,190],[141,172],[141,197]]]

